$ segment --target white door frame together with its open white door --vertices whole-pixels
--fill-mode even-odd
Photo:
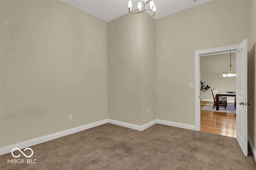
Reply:
[[[236,140],[245,156],[248,155],[247,42],[248,40],[244,39],[240,45],[195,51],[195,130],[198,131],[200,131],[200,56],[236,51]]]

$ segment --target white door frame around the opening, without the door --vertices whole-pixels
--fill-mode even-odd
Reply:
[[[195,51],[195,130],[200,131],[200,56],[229,53],[236,51],[239,45],[203,49]]]

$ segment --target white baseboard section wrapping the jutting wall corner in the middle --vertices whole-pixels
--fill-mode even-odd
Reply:
[[[143,131],[146,128],[149,128],[149,127],[155,125],[156,124],[156,120],[151,121],[149,123],[146,123],[145,125],[142,125],[142,126],[134,125],[134,124],[131,124],[131,123],[126,123],[126,122],[121,122],[121,121],[116,121],[116,120],[113,120],[113,119],[108,119],[108,123],[112,123],[114,125],[118,125],[118,126],[121,126],[121,127],[132,128],[134,130]]]

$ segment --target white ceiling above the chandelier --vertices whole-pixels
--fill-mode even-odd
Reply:
[[[128,0],[61,0],[103,21],[110,22],[128,13]],[[210,0],[154,0],[155,19],[174,14]],[[137,9],[139,0],[132,0],[132,11]],[[141,0],[142,2],[142,0]],[[143,7],[142,7],[143,8]],[[148,12],[150,14],[150,12]]]

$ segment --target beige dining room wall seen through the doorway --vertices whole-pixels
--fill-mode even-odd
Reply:
[[[236,53],[231,53],[232,68],[236,71]],[[200,57],[200,79],[209,85],[208,91],[202,90],[201,99],[212,100],[211,89],[217,91],[236,91],[236,77],[222,77],[222,72],[228,71],[230,53],[207,55]],[[234,97],[228,97],[234,102]]]

